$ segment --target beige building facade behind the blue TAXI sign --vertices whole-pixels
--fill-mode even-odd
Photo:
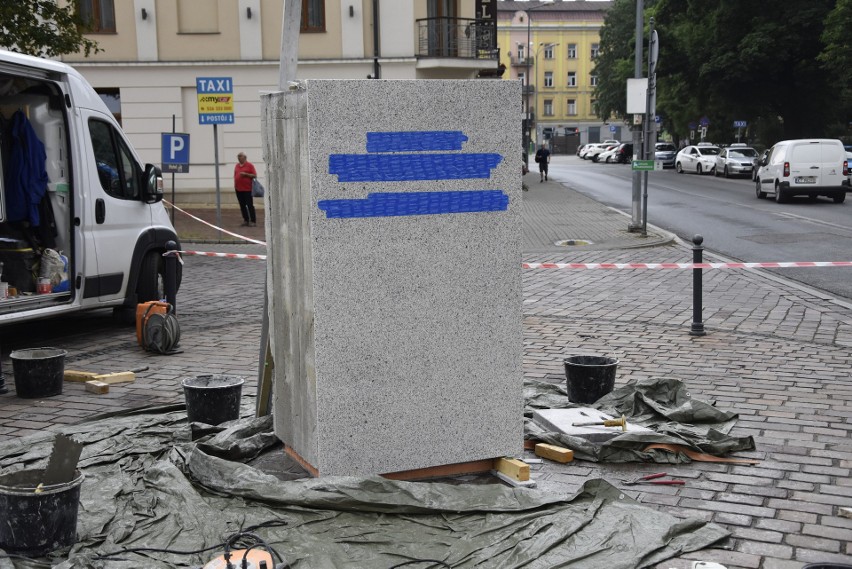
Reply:
[[[175,174],[178,203],[210,200],[216,150],[223,195],[232,190],[238,152],[263,177],[259,96],[278,90],[284,0],[73,1],[91,23],[87,37],[102,51],[62,60],[101,93],[142,160],[160,164],[161,133],[190,135],[189,172]],[[488,49],[496,19],[485,18],[482,4],[303,0],[297,77],[476,77],[498,65],[496,51]],[[199,77],[232,79],[233,124],[199,123]],[[376,112],[389,105],[377,101]]]

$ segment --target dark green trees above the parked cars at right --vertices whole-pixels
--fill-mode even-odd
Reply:
[[[624,70],[633,65],[635,6],[615,0],[601,30],[601,53],[611,56],[600,62],[611,73],[596,91],[601,118],[624,108],[617,101],[633,75]],[[766,144],[842,134],[852,0],[646,0],[646,44],[651,16],[660,38],[657,112],[675,138],[701,116],[710,119],[708,139],[720,143],[734,140],[734,120],[748,121],[748,136]]]

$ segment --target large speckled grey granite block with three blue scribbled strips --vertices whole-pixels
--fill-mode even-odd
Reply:
[[[264,95],[276,433],[321,476],[521,452],[520,111],[496,80]]]

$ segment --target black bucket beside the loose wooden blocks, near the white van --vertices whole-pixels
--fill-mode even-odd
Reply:
[[[10,354],[18,397],[35,399],[62,394],[65,355],[59,348],[30,348]]]

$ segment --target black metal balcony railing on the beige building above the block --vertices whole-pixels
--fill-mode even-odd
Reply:
[[[417,20],[417,57],[496,60],[497,28],[493,22],[470,18]]]

